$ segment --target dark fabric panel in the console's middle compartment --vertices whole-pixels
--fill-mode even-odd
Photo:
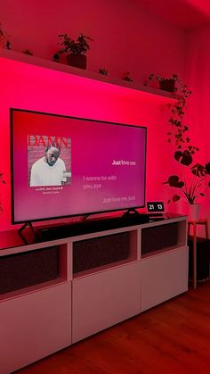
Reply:
[[[73,273],[129,257],[130,233],[81,240],[73,245]]]

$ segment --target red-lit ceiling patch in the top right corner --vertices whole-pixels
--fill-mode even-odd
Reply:
[[[180,29],[195,29],[210,21],[209,0],[139,0],[149,12]]]

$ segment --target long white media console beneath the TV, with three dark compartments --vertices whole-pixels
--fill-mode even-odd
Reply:
[[[30,245],[13,246],[6,235],[0,249],[1,374],[188,289],[186,217]]]

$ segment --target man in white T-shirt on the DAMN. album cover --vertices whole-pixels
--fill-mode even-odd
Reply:
[[[61,186],[66,182],[65,162],[59,157],[61,145],[49,143],[44,152],[44,157],[33,163],[30,172],[30,186]]]

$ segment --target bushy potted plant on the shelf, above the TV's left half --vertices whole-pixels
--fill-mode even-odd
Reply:
[[[86,52],[90,49],[89,40],[93,41],[92,37],[87,37],[80,33],[77,40],[69,37],[68,34],[60,34],[59,45],[61,49],[57,52],[67,55],[67,62],[71,66],[75,66],[80,69],[86,69]]]

